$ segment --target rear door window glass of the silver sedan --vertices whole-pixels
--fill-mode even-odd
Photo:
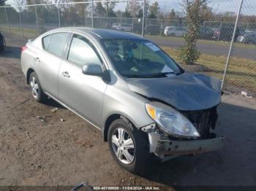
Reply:
[[[57,33],[52,34],[50,38],[50,43],[48,45],[48,51],[52,52],[54,55],[62,55],[65,44],[67,42],[67,33]]]

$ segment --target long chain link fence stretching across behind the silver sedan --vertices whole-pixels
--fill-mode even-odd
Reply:
[[[184,69],[225,79],[224,90],[256,95],[256,1],[206,1],[195,23],[188,20],[186,1],[173,0],[182,6],[168,11],[156,2],[16,4],[0,7],[0,31],[24,41],[64,26],[131,32],[156,42]],[[194,63],[184,64],[181,47],[187,44],[193,26],[198,26],[195,38],[200,55]]]

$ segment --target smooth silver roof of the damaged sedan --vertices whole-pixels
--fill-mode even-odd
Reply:
[[[76,31],[89,36],[94,36],[94,38],[97,39],[143,39],[141,36],[136,34],[114,31],[105,28],[64,27],[53,29],[53,31]]]

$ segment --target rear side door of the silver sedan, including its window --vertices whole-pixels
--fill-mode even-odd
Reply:
[[[58,74],[68,33],[50,34],[42,38],[43,51],[34,58],[37,77],[43,90],[54,97],[58,96]]]

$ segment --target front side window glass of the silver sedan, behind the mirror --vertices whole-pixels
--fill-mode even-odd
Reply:
[[[78,35],[73,36],[67,59],[81,67],[86,63],[102,64],[91,43],[83,36]]]

